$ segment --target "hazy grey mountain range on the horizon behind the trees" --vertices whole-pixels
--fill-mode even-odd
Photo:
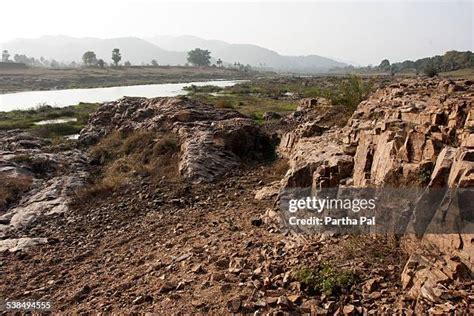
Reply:
[[[55,59],[60,62],[80,62],[84,52],[92,50],[97,58],[110,62],[111,52],[119,48],[122,62],[149,64],[156,59],[160,65],[184,65],[187,52],[194,48],[211,51],[213,60],[224,63],[239,62],[253,67],[276,71],[317,73],[347,64],[317,55],[283,56],[270,49],[250,44],[230,44],[218,40],[205,40],[195,36],[156,36],[146,39],[121,37],[112,39],[43,36],[38,39],[16,39],[2,45],[10,54]]]

